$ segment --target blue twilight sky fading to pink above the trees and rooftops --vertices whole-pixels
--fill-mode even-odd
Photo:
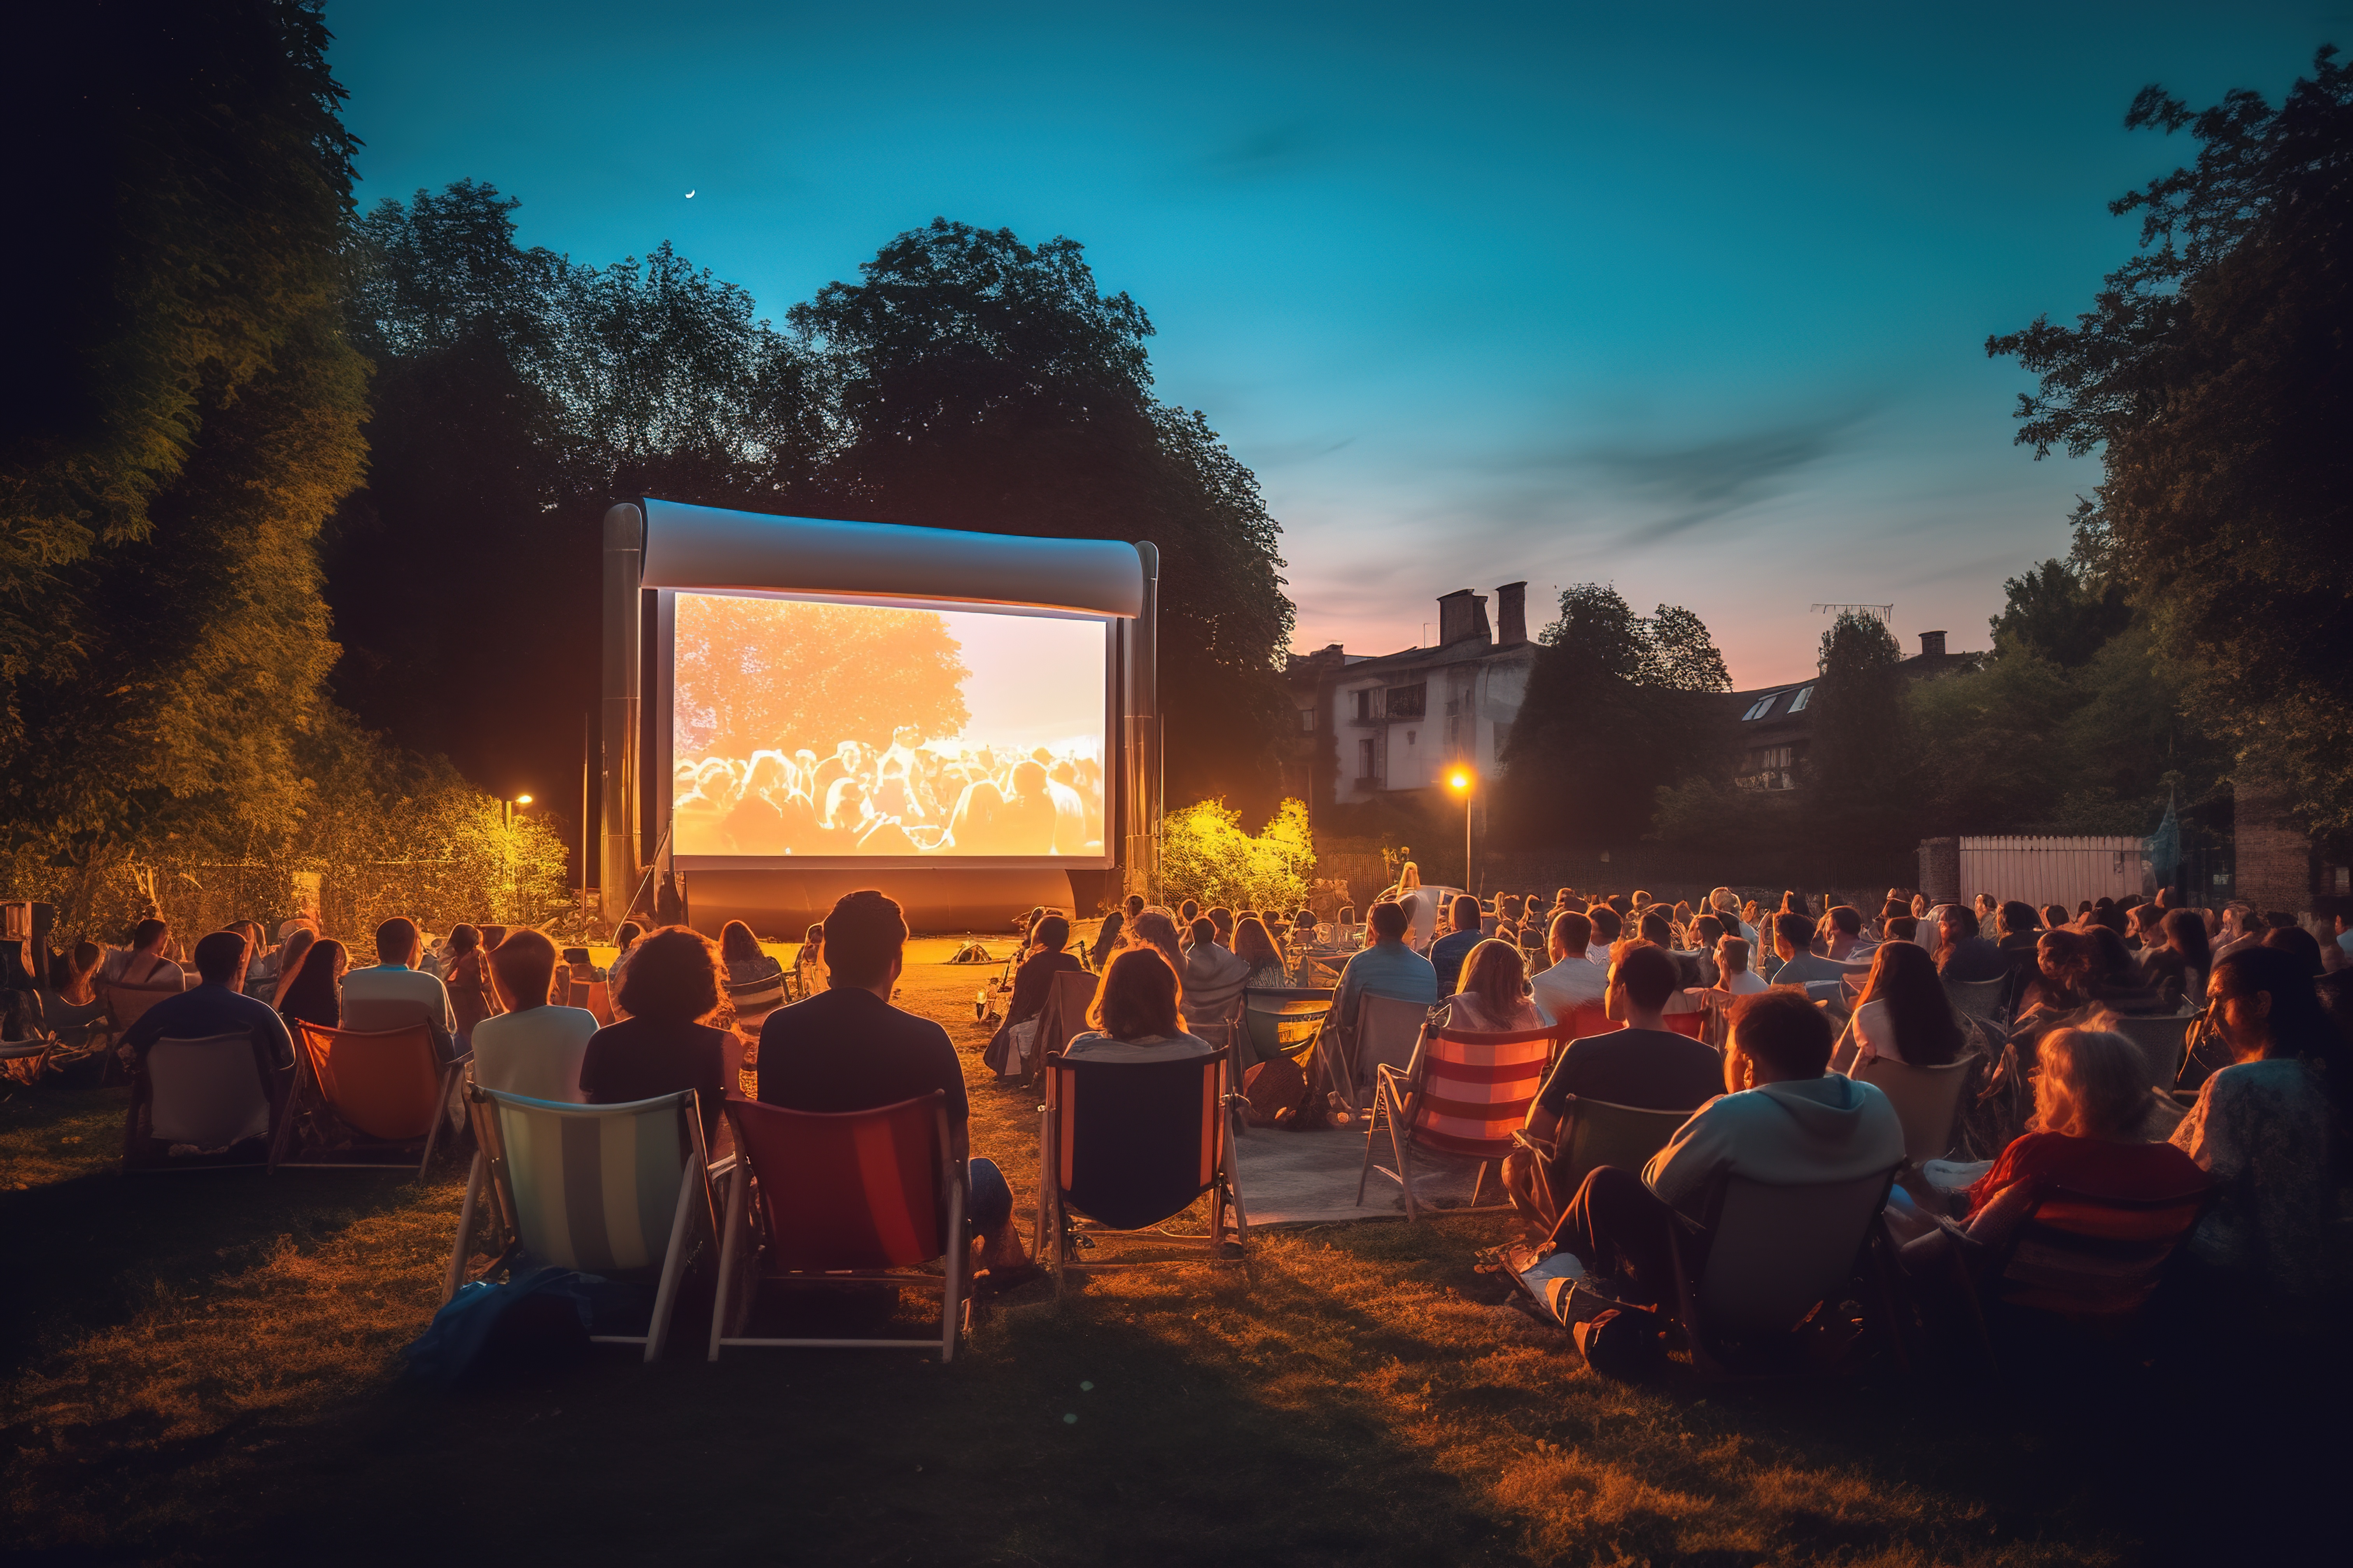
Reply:
[[[1986,334],[2080,310],[2134,237],[2106,200],[2191,155],[2122,132],[2144,82],[2275,99],[2353,0],[1633,9],[329,26],[362,202],[485,179],[527,244],[673,240],[774,317],[932,216],[1082,240],[1264,482],[1301,649],[1412,646],[1513,578],[1539,623],[1577,581],[1687,604],[1741,686],[1812,670],[1824,599],[1986,646],[2097,482],[2009,444]]]

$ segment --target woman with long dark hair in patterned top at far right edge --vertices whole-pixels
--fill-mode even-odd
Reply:
[[[2214,964],[2207,1009],[2231,1065],[2172,1135],[2214,1180],[2191,1255],[2285,1295],[2329,1291],[2346,1267],[2337,1187],[2353,1048],[2304,964],[2278,947]]]

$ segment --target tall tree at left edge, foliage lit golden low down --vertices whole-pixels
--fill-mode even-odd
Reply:
[[[40,16],[31,146],[96,195],[42,263],[87,273],[12,292],[56,315],[9,378],[54,400],[9,411],[0,461],[0,788],[12,846],[80,867],[87,900],[132,846],[287,806],[334,656],[311,541],[360,477],[365,364],[318,5]]]

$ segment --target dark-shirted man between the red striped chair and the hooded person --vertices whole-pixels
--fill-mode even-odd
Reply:
[[[1553,1145],[1569,1112],[1569,1095],[1605,1100],[1635,1110],[1699,1110],[1725,1091],[1725,1058],[1689,1034],[1664,1025],[1664,1009],[1675,994],[1680,971],[1673,954],[1652,945],[1619,945],[1609,964],[1609,990],[1602,997],[1609,1018],[1624,1020],[1612,1034],[1572,1039],[1553,1063],[1551,1077],[1527,1107],[1532,1143]],[[1518,1159],[1518,1157],[1513,1157]],[[1534,1161],[1513,1171],[1506,1164],[1506,1190],[1525,1208],[1558,1215],[1572,1194],[1539,1192]]]

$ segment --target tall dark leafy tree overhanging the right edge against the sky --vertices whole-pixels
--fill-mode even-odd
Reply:
[[[2078,557],[2127,583],[2191,701],[2320,830],[2353,830],[2353,73],[2320,49],[2273,108],[2191,110],[2160,87],[2134,129],[2198,160],[2111,205],[2141,249],[2073,327],[1995,336],[2042,381],[2035,456],[2099,451]]]

